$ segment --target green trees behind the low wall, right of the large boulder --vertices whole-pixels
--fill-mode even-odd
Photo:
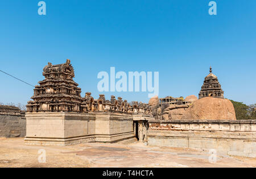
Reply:
[[[236,111],[236,118],[241,119],[256,119],[256,104],[245,105],[242,102],[237,102],[230,100],[233,103],[234,109]]]

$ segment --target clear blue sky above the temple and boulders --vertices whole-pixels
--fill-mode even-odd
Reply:
[[[224,96],[256,103],[256,1],[210,0],[1,0],[0,69],[36,85],[48,62],[71,59],[74,80],[94,98],[97,74],[159,72],[159,97],[198,93],[212,65]],[[0,73],[0,102],[23,103],[32,86]],[[107,92],[148,102],[147,92]]]

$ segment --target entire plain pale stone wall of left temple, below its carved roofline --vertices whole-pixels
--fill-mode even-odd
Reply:
[[[124,113],[26,113],[28,144],[71,145],[134,138],[133,115]]]

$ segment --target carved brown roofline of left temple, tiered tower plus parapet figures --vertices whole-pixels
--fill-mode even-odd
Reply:
[[[94,99],[91,93],[86,92],[81,97],[81,88],[78,88],[73,78],[74,69],[67,59],[66,63],[52,65],[48,63],[43,69],[45,79],[35,86],[33,101],[28,101],[27,112],[76,112],[88,113],[94,111],[118,111],[123,113],[137,113],[134,106],[131,107],[121,97],[118,100],[112,95],[111,100],[106,100],[104,94]],[[135,112],[134,112],[135,111]],[[150,114],[148,105],[143,106],[143,113]]]

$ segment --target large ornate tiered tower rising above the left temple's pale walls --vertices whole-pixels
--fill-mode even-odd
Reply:
[[[59,65],[48,63],[43,76],[45,79],[35,86],[31,97],[34,101],[28,102],[28,111],[80,111],[81,89],[73,81],[75,73],[69,59]]]

